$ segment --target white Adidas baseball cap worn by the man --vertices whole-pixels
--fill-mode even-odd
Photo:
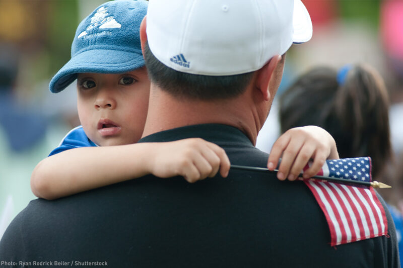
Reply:
[[[177,71],[234,75],[260,69],[312,37],[300,0],[150,0],[151,52]]]

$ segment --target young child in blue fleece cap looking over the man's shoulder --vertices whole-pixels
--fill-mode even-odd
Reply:
[[[139,143],[147,116],[150,81],[140,45],[140,24],[148,2],[117,0],[84,19],[74,37],[72,58],[52,78],[49,88],[62,91],[77,78],[82,126],[70,131],[43,159],[31,177],[33,193],[56,199],[152,173],[180,175],[193,183],[226,177],[230,162],[222,148],[202,139]],[[307,161],[312,176],[327,157],[338,158],[333,138],[308,127],[285,133],[273,147],[269,168],[283,151],[279,178],[294,180]],[[293,176],[289,173],[294,172]]]

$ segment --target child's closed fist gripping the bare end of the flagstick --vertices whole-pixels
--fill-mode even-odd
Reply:
[[[200,138],[156,143],[151,173],[158,177],[183,176],[189,183],[228,175],[230,161],[224,149]]]

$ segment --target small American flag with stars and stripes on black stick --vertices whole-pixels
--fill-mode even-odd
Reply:
[[[318,175],[371,182],[371,158],[327,160]],[[331,246],[387,234],[385,211],[372,187],[321,180],[304,182],[325,214]]]

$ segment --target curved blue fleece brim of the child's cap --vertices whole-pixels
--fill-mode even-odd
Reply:
[[[92,49],[77,54],[51,79],[49,90],[58,93],[71,84],[78,73],[123,73],[145,65],[141,51]]]

